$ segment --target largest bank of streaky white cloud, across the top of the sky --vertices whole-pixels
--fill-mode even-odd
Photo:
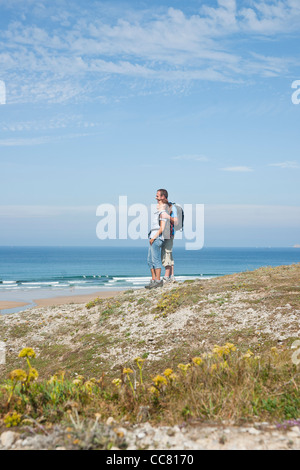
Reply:
[[[299,30],[297,0],[257,0],[247,8],[235,0],[214,7],[207,1],[194,14],[95,1],[88,7],[69,0],[6,3],[20,5],[0,32],[1,70],[12,102],[80,100],[108,79],[110,86],[114,79],[148,80],[149,89],[153,82],[237,83],[281,76],[297,65],[294,57],[263,54],[259,47],[266,38]],[[254,36],[256,50],[253,44],[236,47],[237,37],[247,45]]]

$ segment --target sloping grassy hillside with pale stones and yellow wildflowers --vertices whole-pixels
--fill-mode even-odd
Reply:
[[[0,331],[0,384],[28,374],[26,360],[39,375],[0,387],[3,425],[14,411],[20,422],[61,421],[72,403],[87,416],[168,424],[300,414],[299,264],[36,308],[1,317]],[[35,357],[18,357],[25,347]]]

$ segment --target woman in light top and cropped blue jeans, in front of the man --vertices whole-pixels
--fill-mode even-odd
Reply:
[[[163,232],[166,226],[168,216],[168,205],[164,204],[161,199],[157,198],[157,206],[154,214],[151,217],[151,230],[149,232],[149,250],[148,250],[148,266],[151,271],[152,279],[150,283],[145,286],[146,289],[153,289],[154,287],[161,287],[163,281],[160,280],[161,275],[161,247],[164,241]]]

